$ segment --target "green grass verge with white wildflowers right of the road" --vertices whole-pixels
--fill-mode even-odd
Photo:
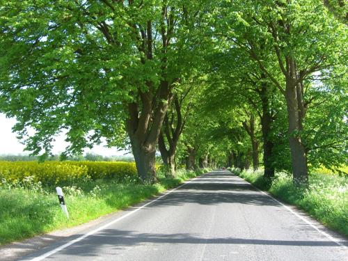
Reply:
[[[292,178],[277,173],[276,179],[267,182],[262,172],[235,171],[240,177],[286,203],[296,205],[325,226],[348,237],[348,178],[339,175],[313,173],[309,177],[308,189],[299,189]]]

